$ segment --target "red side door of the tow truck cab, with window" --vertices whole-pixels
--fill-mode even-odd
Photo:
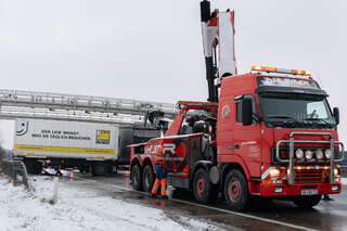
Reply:
[[[244,111],[244,101],[252,101],[252,112]],[[257,112],[255,97],[240,95],[234,99],[235,123],[233,126],[233,154],[239,155],[246,163],[252,177],[260,177],[261,167],[261,143],[260,143],[260,123]],[[243,113],[252,113],[250,125],[243,121]]]

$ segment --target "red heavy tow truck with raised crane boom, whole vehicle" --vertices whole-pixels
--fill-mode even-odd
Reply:
[[[179,101],[165,134],[131,147],[130,178],[150,192],[155,156],[164,153],[168,184],[200,203],[224,196],[231,209],[255,197],[312,207],[340,193],[338,108],[307,70],[253,66],[237,75],[234,12],[201,2],[208,102]]]

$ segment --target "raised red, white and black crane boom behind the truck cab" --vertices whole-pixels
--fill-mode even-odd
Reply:
[[[209,102],[218,102],[218,88],[221,78],[236,75],[234,52],[234,12],[210,12],[210,2],[201,2],[206,79]],[[218,47],[218,48],[217,48]]]

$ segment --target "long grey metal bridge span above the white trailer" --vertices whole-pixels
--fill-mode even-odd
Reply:
[[[175,104],[140,100],[0,89],[0,118],[46,118],[134,124],[147,111],[177,114]]]

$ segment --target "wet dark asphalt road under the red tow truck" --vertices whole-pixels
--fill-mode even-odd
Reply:
[[[247,213],[235,213],[228,209],[222,198],[208,206],[197,204],[190,193],[182,192],[175,192],[172,200],[152,198],[132,190],[128,171],[112,177],[76,175],[74,181],[62,182],[77,185],[81,190],[92,189],[115,198],[160,208],[174,220],[175,216],[180,214],[203,219],[224,230],[347,230],[346,185],[342,194],[331,196],[334,201],[321,201],[312,209],[297,208],[291,202],[272,201]]]

